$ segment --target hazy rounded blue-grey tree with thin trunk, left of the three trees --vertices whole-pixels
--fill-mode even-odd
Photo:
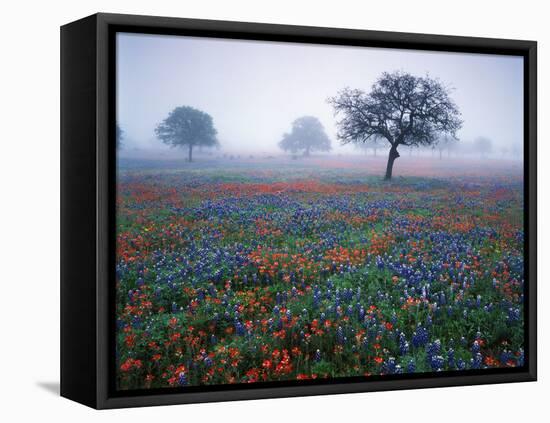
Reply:
[[[157,137],[171,147],[187,147],[189,161],[193,148],[214,147],[218,144],[212,116],[189,106],[176,107],[155,129]]]

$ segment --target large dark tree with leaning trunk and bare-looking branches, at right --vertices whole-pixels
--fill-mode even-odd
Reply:
[[[384,72],[369,94],[346,88],[328,101],[342,116],[337,122],[342,144],[378,138],[389,144],[387,180],[391,179],[400,145],[430,146],[443,133],[456,137],[462,126],[449,89],[428,76]]]

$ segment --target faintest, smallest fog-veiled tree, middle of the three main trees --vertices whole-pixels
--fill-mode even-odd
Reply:
[[[283,135],[279,147],[296,154],[309,156],[313,151],[330,151],[330,139],[322,123],[314,116],[302,116],[292,122],[290,133]]]

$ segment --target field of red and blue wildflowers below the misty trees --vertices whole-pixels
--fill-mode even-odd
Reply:
[[[119,168],[119,389],[523,365],[521,172],[310,163]]]

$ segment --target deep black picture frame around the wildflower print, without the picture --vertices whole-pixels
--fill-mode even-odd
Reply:
[[[114,391],[114,35],[119,31],[523,56],[525,366],[185,392]],[[104,409],[536,380],[536,138],[534,41],[103,13],[61,27],[61,395]]]

